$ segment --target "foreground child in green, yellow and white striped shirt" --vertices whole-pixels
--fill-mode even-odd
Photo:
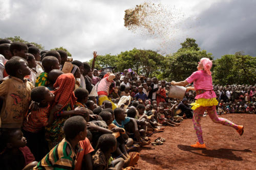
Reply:
[[[37,169],[74,169],[80,140],[87,136],[87,122],[82,116],[73,116],[66,120],[62,139],[42,160],[34,167]]]

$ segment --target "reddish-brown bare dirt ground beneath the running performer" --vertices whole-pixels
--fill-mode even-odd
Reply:
[[[197,141],[192,119],[185,119],[179,127],[165,127],[155,133],[154,141],[161,136],[163,145],[147,145],[140,151],[136,169],[256,169],[256,114],[226,114],[233,123],[244,125],[240,136],[230,127],[216,124],[209,116],[201,125],[207,150],[191,148]]]

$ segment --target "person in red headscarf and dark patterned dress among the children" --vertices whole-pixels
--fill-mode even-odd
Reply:
[[[46,127],[46,139],[50,150],[65,137],[62,127],[66,119],[71,115],[83,115],[86,112],[82,107],[74,109],[76,97],[74,94],[75,78],[73,74],[60,75],[53,87],[57,89],[53,91],[55,98],[51,107],[57,104],[61,104],[62,107],[55,113],[53,124],[50,127]]]

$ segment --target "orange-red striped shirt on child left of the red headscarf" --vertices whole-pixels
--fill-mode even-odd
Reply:
[[[38,132],[48,125],[50,105],[31,111],[23,123],[23,129],[28,132]]]

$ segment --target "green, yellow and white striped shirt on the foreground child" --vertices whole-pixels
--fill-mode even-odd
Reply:
[[[67,149],[70,152],[67,152]],[[76,153],[65,138],[62,139],[33,169],[74,169]]]

